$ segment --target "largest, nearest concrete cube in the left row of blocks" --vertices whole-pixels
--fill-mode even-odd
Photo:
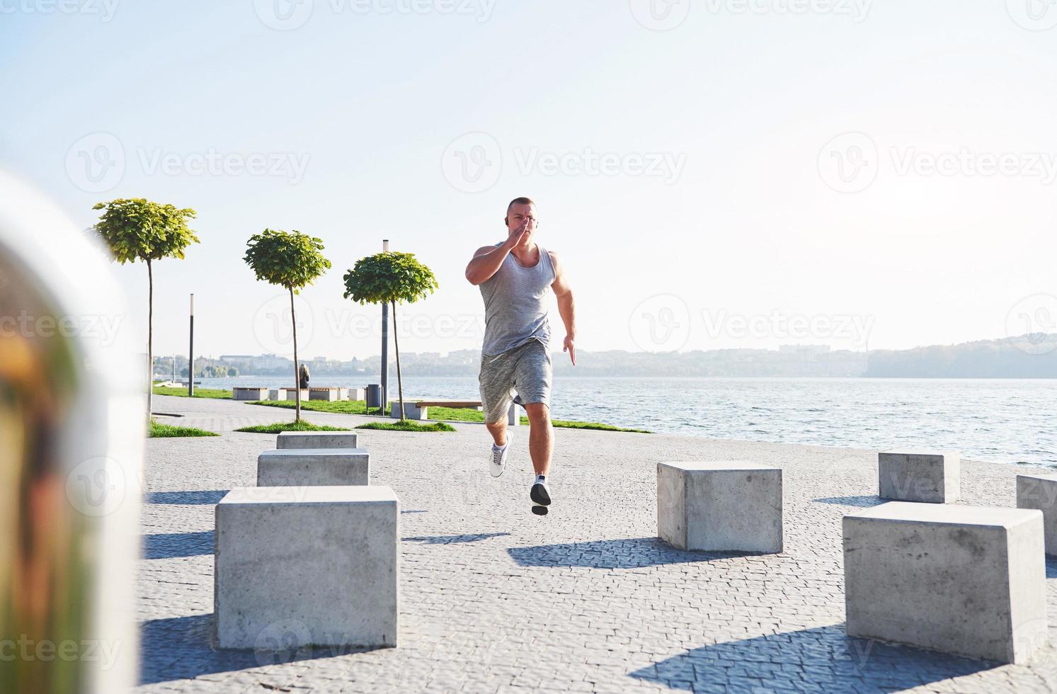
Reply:
[[[237,488],[216,523],[220,647],[397,644],[400,503],[390,488]]]

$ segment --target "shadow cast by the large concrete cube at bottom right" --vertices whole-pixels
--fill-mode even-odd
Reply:
[[[849,638],[843,624],[693,649],[630,674],[697,692],[897,692],[990,670],[999,663]]]

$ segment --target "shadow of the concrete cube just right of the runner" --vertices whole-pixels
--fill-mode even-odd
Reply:
[[[512,547],[506,550],[521,566],[551,568],[581,566],[595,569],[634,569],[663,564],[707,562],[734,556],[757,556],[752,552],[688,552],[657,537],[596,540],[567,545]]]

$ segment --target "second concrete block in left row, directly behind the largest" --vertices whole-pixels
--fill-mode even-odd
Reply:
[[[366,449],[283,449],[257,456],[258,487],[341,487],[370,483]]]

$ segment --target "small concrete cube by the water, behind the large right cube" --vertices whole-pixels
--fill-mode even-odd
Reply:
[[[877,455],[877,495],[900,501],[949,504],[961,494],[961,458],[952,451]]]

